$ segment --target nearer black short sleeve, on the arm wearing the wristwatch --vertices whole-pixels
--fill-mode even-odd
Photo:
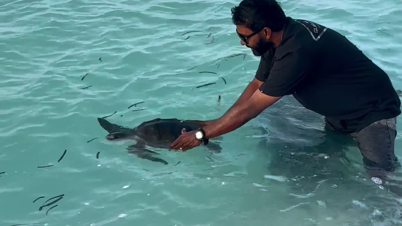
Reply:
[[[299,47],[274,59],[267,80],[259,88],[260,92],[273,97],[293,94],[297,84],[312,70],[310,53],[308,49]]]

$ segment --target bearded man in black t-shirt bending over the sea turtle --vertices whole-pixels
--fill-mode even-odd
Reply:
[[[169,148],[191,149],[293,95],[324,115],[330,128],[357,141],[371,177],[394,171],[400,99],[381,68],[336,31],[286,17],[275,0],[243,0],[232,8],[232,21],[240,44],[261,56],[255,78],[222,117],[202,121],[196,131],[183,131]],[[377,179],[373,181],[382,183]]]

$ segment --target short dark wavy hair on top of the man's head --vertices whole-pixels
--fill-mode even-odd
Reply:
[[[231,11],[235,25],[248,27],[252,31],[260,31],[264,27],[281,31],[285,25],[285,12],[276,0],[242,0]]]

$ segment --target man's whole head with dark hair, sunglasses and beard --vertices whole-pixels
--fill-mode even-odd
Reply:
[[[285,12],[276,0],[242,0],[232,8],[240,43],[252,49],[256,56],[275,46],[277,32],[285,25]]]

